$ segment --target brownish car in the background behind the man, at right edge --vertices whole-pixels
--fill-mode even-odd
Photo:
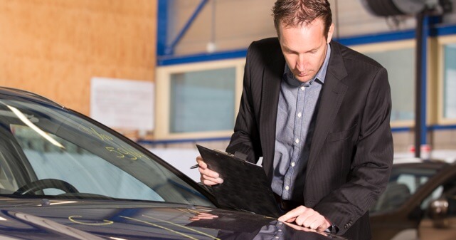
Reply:
[[[393,165],[370,212],[373,240],[456,239],[456,165],[436,160]]]

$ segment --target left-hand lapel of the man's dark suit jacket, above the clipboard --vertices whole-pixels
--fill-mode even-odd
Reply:
[[[282,51],[271,58],[269,64],[263,68],[263,90],[261,100],[260,135],[263,149],[263,167],[269,176],[272,176],[272,162],[275,150],[275,127],[277,121],[277,106],[279,104],[280,83],[285,69],[285,58]]]

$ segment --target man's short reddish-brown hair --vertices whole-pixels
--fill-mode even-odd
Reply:
[[[321,18],[324,23],[324,36],[328,38],[329,27],[332,24],[328,0],[277,0],[272,8],[272,16],[278,36],[281,23],[287,27],[295,27]]]

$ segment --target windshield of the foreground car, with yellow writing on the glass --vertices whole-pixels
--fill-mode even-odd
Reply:
[[[9,96],[0,99],[0,125],[0,197],[213,206],[157,156],[71,110]]]

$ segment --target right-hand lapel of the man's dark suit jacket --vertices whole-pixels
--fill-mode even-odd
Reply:
[[[314,136],[312,137],[312,145],[310,147],[309,161],[307,162],[307,172],[312,171],[319,152],[322,150],[324,141],[327,138],[332,122],[336,118],[336,113],[339,111],[342,100],[348,88],[347,85],[341,83],[341,79],[346,77],[346,69],[341,56],[341,51],[338,43],[331,43],[331,58],[320,103],[317,112],[317,122],[315,123]],[[309,174],[306,174],[309,176]]]

